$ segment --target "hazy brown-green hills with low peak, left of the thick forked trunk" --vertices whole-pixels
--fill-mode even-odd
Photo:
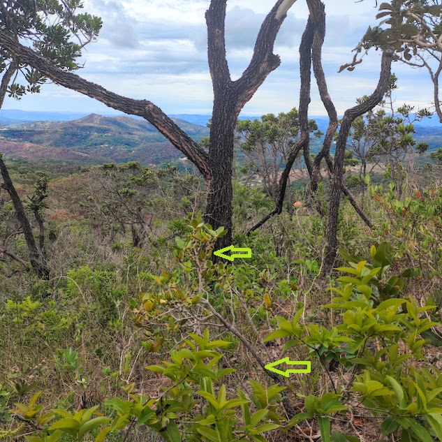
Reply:
[[[182,119],[175,123],[197,142],[209,134],[208,128]],[[0,138],[13,142],[0,150],[8,156],[60,161],[103,163],[140,161],[159,164],[183,156],[145,119],[128,116],[104,117],[91,114],[74,121],[31,121],[2,128]],[[58,149],[58,150],[57,150]],[[54,158],[56,159],[56,158]]]

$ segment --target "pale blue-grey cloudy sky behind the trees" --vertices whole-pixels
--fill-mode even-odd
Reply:
[[[212,84],[207,68],[205,10],[209,0],[84,0],[84,10],[103,19],[96,43],[84,50],[84,68],[77,73],[87,80],[131,98],[145,98],[168,114],[210,114]],[[226,17],[228,64],[238,78],[251,58],[260,24],[272,0],[229,0]],[[374,0],[325,0],[327,36],[323,64],[330,94],[339,115],[355,98],[371,94],[378,81],[381,54],[372,51],[355,71],[337,73],[353,58],[369,24],[376,24]],[[298,46],[307,22],[307,6],[297,0],[277,38],[275,53],[281,66],[271,73],[246,104],[243,115],[287,112],[299,102]],[[432,83],[427,71],[393,64],[399,78],[397,105],[431,106]],[[310,115],[325,115],[316,84]],[[115,112],[63,87],[49,84],[41,94],[22,101],[7,98],[3,109]]]

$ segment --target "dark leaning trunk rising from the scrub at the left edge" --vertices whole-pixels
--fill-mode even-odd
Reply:
[[[29,261],[31,262],[31,266],[38,277],[48,279],[50,270],[45,263],[44,257],[38,250],[36,240],[32,233],[31,225],[29,224],[29,219],[26,212],[24,212],[22,200],[20,200],[20,196],[15,190],[14,184],[9,176],[8,168],[6,168],[6,164],[3,162],[3,159],[1,159],[1,157],[0,173],[1,177],[3,178],[3,189],[5,189],[9,193],[10,199],[12,200],[14,205],[15,214],[17,215],[17,219],[20,222],[20,226],[22,226],[24,240],[26,241],[29,251]]]

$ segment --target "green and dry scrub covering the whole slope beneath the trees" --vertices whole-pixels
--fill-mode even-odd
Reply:
[[[233,244],[252,256],[216,262],[223,229],[201,219],[196,173],[8,163],[25,205],[46,177],[50,277],[1,255],[0,438],[441,440],[441,171],[404,175],[399,196],[350,163],[373,228],[344,198],[332,274],[325,220],[295,181],[283,214],[248,236],[274,202],[237,168]],[[327,191],[325,177],[323,213]],[[4,189],[0,226],[26,260]],[[264,368],[286,356],[311,372]]]

